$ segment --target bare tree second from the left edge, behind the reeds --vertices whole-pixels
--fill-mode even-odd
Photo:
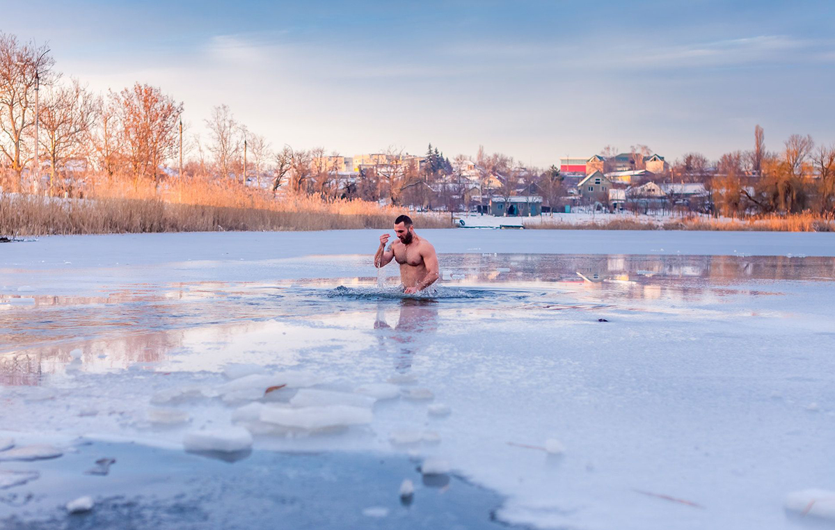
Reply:
[[[40,142],[49,159],[49,189],[52,190],[59,165],[86,154],[87,140],[99,119],[100,107],[99,99],[77,79],[69,85],[53,86],[44,96],[40,108],[43,127]]]

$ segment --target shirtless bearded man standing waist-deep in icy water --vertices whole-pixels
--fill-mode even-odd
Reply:
[[[438,255],[435,254],[435,247],[415,234],[408,215],[401,215],[394,220],[394,233],[397,234],[397,241],[389,245],[388,249],[386,243],[389,235],[380,236],[374,266],[384,267],[392,259],[397,260],[403,292],[413,295],[438,280]]]

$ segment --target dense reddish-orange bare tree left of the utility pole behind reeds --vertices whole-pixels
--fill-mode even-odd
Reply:
[[[111,93],[111,97],[119,113],[134,189],[143,177],[149,176],[154,184],[159,184],[159,164],[176,153],[177,119],[183,112],[183,103],[176,103],[159,88],[139,83]]]

